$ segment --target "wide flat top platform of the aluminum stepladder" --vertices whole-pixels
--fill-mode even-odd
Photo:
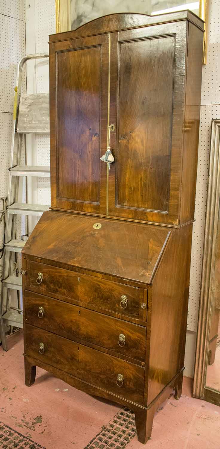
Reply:
[[[21,95],[17,132],[50,132],[48,93]]]

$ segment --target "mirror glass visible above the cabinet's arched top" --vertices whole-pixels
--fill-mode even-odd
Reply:
[[[71,29],[90,20],[113,13],[163,14],[190,9],[199,15],[199,1],[194,0],[71,0]]]

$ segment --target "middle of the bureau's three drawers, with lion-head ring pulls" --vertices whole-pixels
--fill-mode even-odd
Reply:
[[[25,317],[29,324],[62,337],[81,339],[145,361],[146,327],[27,290]]]

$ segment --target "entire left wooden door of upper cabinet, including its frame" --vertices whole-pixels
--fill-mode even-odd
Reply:
[[[108,34],[50,44],[52,208],[106,213]]]

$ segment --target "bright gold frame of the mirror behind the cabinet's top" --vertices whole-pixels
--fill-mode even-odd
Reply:
[[[207,2],[199,0],[199,17],[205,22],[205,33],[203,41],[203,63],[206,64],[207,55]],[[56,4],[56,33],[71,30],[70,0],[55,0]]]

